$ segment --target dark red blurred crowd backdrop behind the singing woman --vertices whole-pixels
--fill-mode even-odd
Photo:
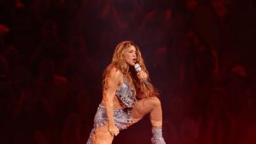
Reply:
[[[85,143],[104,67],[132,40],[166,143],[255,144],[255,26],[253,0],[0,0],[0,143]],[[113,143],[149,143],[131,130]]]

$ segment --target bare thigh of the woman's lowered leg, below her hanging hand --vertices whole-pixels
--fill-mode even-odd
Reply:
[[[94,144],[111,144],[113,141],[113,135],[108,131],[108,124],[97,127],[93,138]]]

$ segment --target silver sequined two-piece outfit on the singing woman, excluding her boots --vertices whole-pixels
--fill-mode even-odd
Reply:
[[[134,106],[136,97],[130,84],[125,81],[120,84],[119,89],[116,90],[115,95],[118,96],[119,100],[125,105],[125,109],[113,109],[113,119],[114,124],[119,128],[119,130],[124,130],[127,128],[126,124],[132,122],[131,118],[131,108]],[[108,116],[106,107],[99,105],[97,108],[96,116],[94,118],[94,128],[90,132],[90,137],[86,144],[93,144],[92,138],[95,135],[95,130],[99,126],[103,126],[108,123]]]

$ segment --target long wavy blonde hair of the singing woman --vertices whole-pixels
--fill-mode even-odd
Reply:
[[[148,70],[144,64],[144,60],[142,57],[142,53],[138,46],[131,42],[131,41],[124,41],[119,43],[113,52],[112,62],[106,67],[105,71],[103,72],[103,81],[102,86],[103,90],[108,88],[108,77],[110,70],[115,67],[119,71],[124,74],[125,80],[131,85],[131,88],[135,89],[136,95],[138,99],[152,97],[152,96],[159,96],[158,90],[156,90],[150,82],[149,74],[148,74],[148,88],[137,78],[137,72],[135,71],[134,66],[130,66],[125,61],[125,52],[126,49],[130,46],[134,46],[137,52],[137,63],[141,66],[142,70],[148,74]]]

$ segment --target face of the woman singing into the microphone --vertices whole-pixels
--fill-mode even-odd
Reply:
[[[125,61],[131,66],[137,62],[137,51],[133,45],[125,49]]]

